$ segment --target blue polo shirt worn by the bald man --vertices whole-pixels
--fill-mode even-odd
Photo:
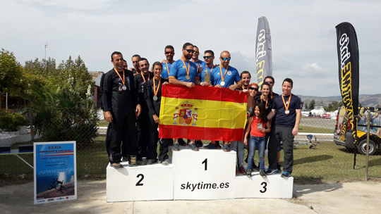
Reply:
[[[221,78],[221,73],[219,68],[220,67],[218,66],[217,68],[213,68],[212,70],[211,79],[213,79],[213,82],[212,82],[213,85],[216,85],[216,84],[221,85],[222,78]],[[222,70],[222,77],[223,77],[225,74],[226,68],[221,68],[221,70]],[[229,66],[228,70],[226,71],[226,75],[224,77],[225,85],[223,87],[229,88],[229,86],[234,84],[234,82],[240,82],[240,81],[241,81],[241,77],[239,76],[238,70],[236,70],[236,68]]]

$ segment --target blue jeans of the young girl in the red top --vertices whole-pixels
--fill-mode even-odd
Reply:
[[[260,170],[265,170],[265,146],[266,137],[254,137],[250,135],[249,140],[249,154],[248,154],[248,170],[253,170],[253,158],[255,149],[258,147],[258,154],[260,156]]]

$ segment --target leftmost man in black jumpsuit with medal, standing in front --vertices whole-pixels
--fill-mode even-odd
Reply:
[[[104,119],[112,123],[109,132],[109,162],[114,168],[121,168],[122,140],[128,142],[127,156],[136,154],[135,122],[141,108],[135,96],[133,73],[123,69],[123,55],[114,51],[111,63],[114,68],[104,75],[102,102]]]

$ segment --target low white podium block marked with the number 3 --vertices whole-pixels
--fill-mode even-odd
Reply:
[[[263,178],[259,172],[253,172],[251,175],[252,177],[237,176],[234,178],[234,198],[292,198],[294,177],[284,178],[277,173]]]

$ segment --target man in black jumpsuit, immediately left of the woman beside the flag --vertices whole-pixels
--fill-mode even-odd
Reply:
[[[145,82],[148,82],[153,78],[153,74],[150,70],[150,63],[148,63],[147,58],[140,58],[138,61],[140,73],[134,75],[135,89],[138,93],[138,103],[142,108],[140,116],[138,118],[138,163],[143,157],[147,157],[150,163],[155,163],[156,156],[155,153],[147,152],[147,143],[150,142],[151,132],[150,128],[150,117],[148,116],[148,107],[145,102]],[[143,163],[144,164],[144,163]]]

